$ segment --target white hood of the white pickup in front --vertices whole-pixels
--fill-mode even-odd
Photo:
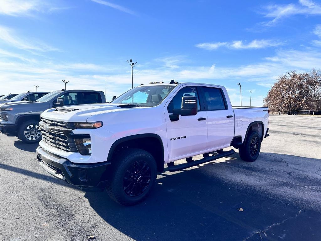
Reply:
[[[108,112],[120,112],[133,109],[142,109],[148,107],[132,107],[122,108],[118,107],[121,104],[101,103],[101,104],[85,104],[62,106],[49,109],[41,114],[41,117],[65,122],[85,122],[92,115],[103,114]]]

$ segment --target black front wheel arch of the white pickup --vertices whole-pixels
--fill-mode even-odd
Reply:
[[[157,171],[164,170],[164,145],[159,135],[153,133],[137,134],[119,138],[110,147],[107,161],[112,162],[121,148],[136,147],[148,151],[156,160]]]

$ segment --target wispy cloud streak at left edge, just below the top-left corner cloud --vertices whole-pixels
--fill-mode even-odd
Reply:
[[[37,40],[27,40],[25,38],[21,38],[16,33],[14,33],[12,29],[1,25],[0,40],[2,40],[5,44],[11,45],[18,49],[35,50],[40,52],[58,51],[58,49]],[[32,44],[31,42],[33,42],[34,44]]]

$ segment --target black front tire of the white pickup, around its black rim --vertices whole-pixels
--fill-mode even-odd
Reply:
[[[128,181],[128,170],[132,170],[133,166],[139,163],[146,163],[150,168],[150,180],[147,188],[137,196],[130,196],[125,192],[125,182]],[[143,173],[143,172],[142,172]],[[131,175],[131,174],[129,174]],[[157,166],[154,157],[147,151],[138,148],[128,148],[117,156],[112,162],[111,176],[106,186],[109,197],[119,204],[130,206],[143,201],[151,192],[156,181]],[[131,176],[133,178],[134,176]],[[126,179],[127,178],[127,179]],[[138,177],[139,178],[139,177]],[[134,178],[133,178],[134,180]],[[141,179],[143,183],[143,178]],[[136,179],[133,181],[135,185]],[[145,182],[144,182],[145,183]],[[139,187],[138,187],[139,188]]]

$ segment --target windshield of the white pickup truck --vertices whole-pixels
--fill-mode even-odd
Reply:
[[[122,94],[111,103],[152,107],[159,105],[175,87],[176,85],[139,86]]]

